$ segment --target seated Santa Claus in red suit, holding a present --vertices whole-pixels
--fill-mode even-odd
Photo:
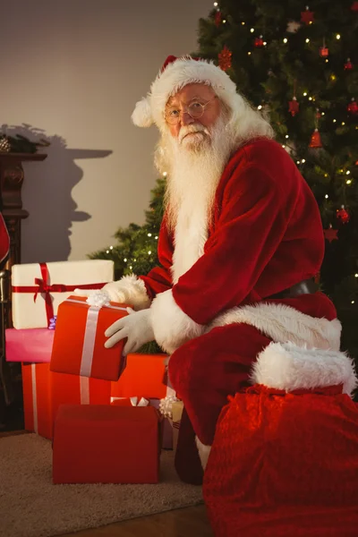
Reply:
[[[218,415],[227,396],[249,384],[259,354],[269,348],[274,370],[285,368],[270,344],[290,342],[292,354],[297,346],[320,349],[322,386],[352,390],[354,371],[339,353],[335,307],[313,284],[324,253],[317,202],[226,72],[169,56],[132,121],[160,132],[156,164],[167,172],[160,267],[104,287],[111,300],[133,306],[107,329],[106,345],[127,338],[130,353],[155,339],[170,354],[169,378],[185,408],[176,466],[184,480],[200,482],[190,443],[205,468]],[[349,362],[333,368],[337,374],[324,374],[328,349],[328,361]],[[312,388],[306,377],[303,388]]]

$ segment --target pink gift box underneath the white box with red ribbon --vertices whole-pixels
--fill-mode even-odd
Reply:
[[[55,330],[6,328],[6,362],[49,363]]]

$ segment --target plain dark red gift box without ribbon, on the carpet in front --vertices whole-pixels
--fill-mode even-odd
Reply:
[[[152,406],[61,405],[54,483],[157,483],[159,416]]]

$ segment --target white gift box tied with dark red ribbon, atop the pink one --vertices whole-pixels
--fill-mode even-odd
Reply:
[[[113,277],[111,260],[13,265],[13,327],[47,328],[48,318],[75,288],[98,289]]]

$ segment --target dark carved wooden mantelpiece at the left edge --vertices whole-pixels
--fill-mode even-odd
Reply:
[[[3,391],[6,405],[10,405],[13,400],[11,375],[4,355],[4,329],[13,326],[11,269],[14,264],[21,262],[21,220],[29,216],[28,211],[22,209],[21,187],[24,181],[22,163],[45,160],[45,158],[47,155],[40,153],[0,153],[1,209],[10,235],[9,255],[3,266],[0,267],[0,391]]]

